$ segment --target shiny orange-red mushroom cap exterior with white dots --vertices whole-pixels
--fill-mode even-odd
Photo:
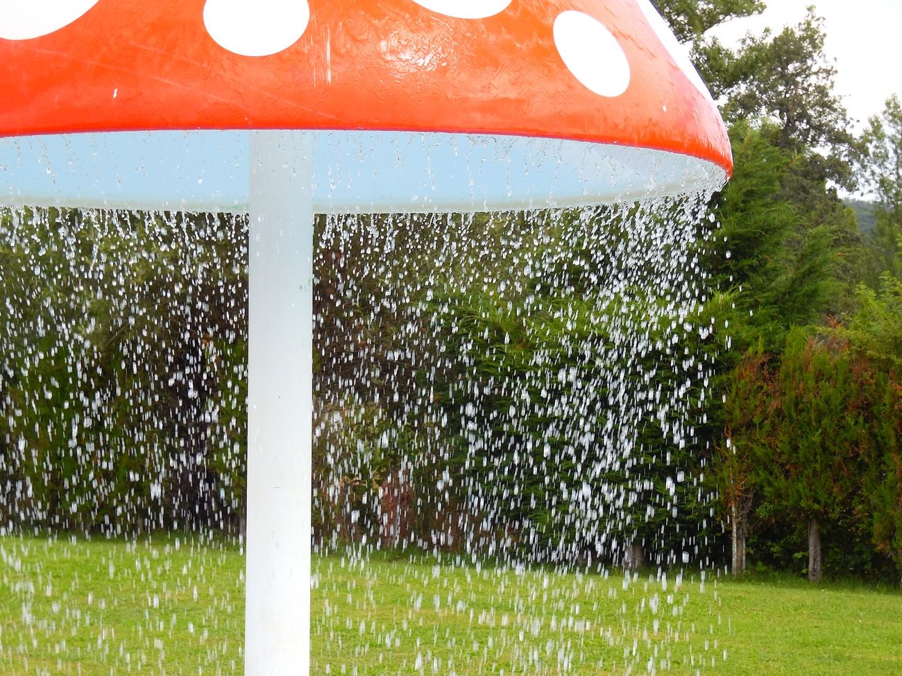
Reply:
[[[0,23],[0,135],[465,132],[729,174],[687,64],[649,0],[23,0]]]

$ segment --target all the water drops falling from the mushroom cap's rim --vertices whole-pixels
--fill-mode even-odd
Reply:
[[[313,672],[716,671],[710,197],[317,217]],[[242,673],[246,216],[0,265],[0,671]]]

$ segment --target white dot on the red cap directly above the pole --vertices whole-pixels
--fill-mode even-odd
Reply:
[[[297,42],[310,20],[307,0],[207,0],[204,25],[221,47],[270,56]]]

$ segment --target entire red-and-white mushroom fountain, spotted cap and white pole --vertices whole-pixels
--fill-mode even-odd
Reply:
[[[732,167],[649,0],[3,0],[0,17],[0,203],[250,213],[247,673],[308,671],[313,214],[630,201]]]

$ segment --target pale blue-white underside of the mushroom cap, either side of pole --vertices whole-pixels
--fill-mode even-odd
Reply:
[[[667,151],[556,139],[309,132],[318,213],[585,206],[723,184]],[[108,132],[0,139],[0,204],[247,211],[249,134]]]

